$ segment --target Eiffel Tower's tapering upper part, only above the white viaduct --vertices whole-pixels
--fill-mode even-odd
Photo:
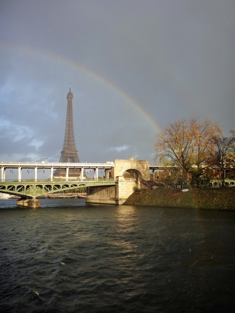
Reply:
[[[80,163],[74,136],[73,128],[73,94],[71,93],[71,84],[69,92],[67,94],[67,115],[66,115],[66,125],[65,125],[65,139],[63,150],[61,151],[60,162],[61,163]]]

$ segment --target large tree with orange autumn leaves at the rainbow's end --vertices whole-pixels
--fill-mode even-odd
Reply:
[[[201,179],[206,178],[207,162],[216,151],[217,136],[222,136],[222,129],[208,119],[203,123],[196,117],[175,121],[156,135],[154,162],[170,165],[185,180],[190,173],[193,183],[203,184]]]

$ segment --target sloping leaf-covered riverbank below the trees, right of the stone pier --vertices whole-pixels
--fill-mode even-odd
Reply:
[[[142,189],[133,192],[124,204],[235,211],[235,187],[191,188],[187,192],[181,189]]]

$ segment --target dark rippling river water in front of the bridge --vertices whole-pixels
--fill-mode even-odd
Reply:
[[[235,213],[0,200],[2,312],[234,312]]]

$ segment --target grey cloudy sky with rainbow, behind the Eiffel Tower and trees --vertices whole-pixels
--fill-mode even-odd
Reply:
[[[59,162],[71,83],[81,162],[154,158],[197,116],[235,128],[235,1],[0,2],[0,162]]]

